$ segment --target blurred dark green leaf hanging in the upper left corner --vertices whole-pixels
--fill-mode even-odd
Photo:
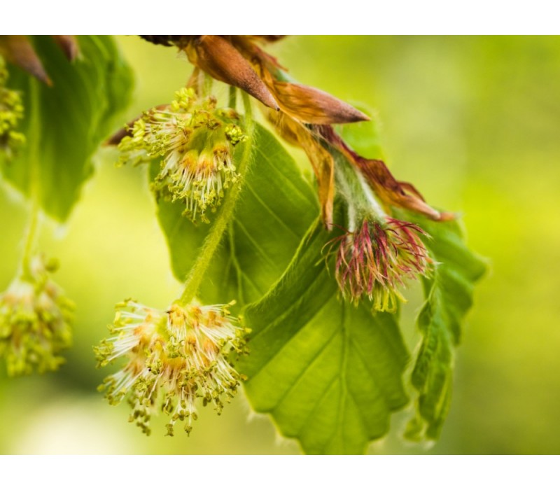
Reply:
[[[71,63],[52,38],[34,38],[52,87],[10,66],[9,85],[23,96],[27,144],[2,162],[3,176],[29,195],[36,175],[41,207],[58,221],[79,199],[93,172],[92,155],[114,129],[113,117],[127,106],[132,87],[111,36],[78,36],[78,44],[80,56]]]

